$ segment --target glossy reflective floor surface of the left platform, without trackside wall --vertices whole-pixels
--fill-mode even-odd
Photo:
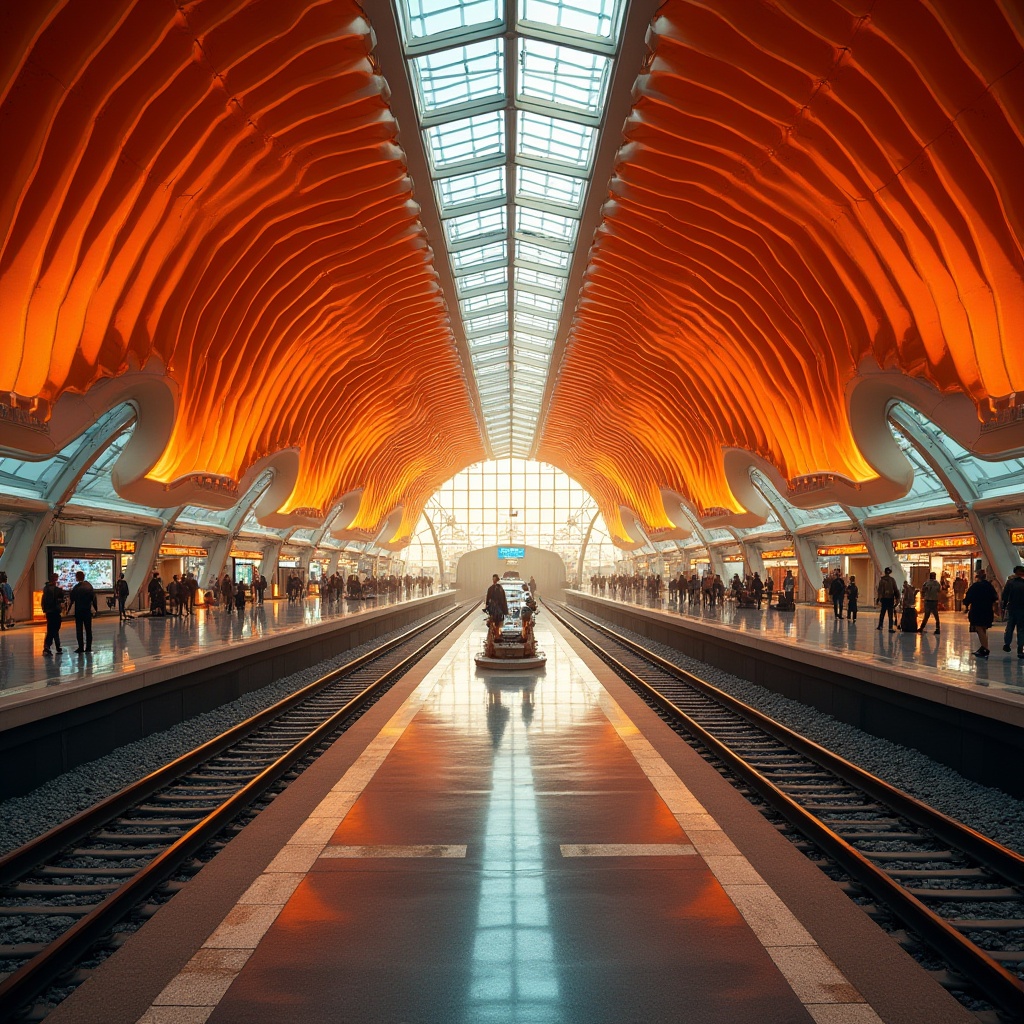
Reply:
[[[0,706],[5,698],[45,690],[63,683],[81,683],[157,666],[173,658],[189,658],[225,646],[239,646],[271,636],[294,634],[322,623],[366,614],[386,607],[383,599],[342,601],[325,605],[317,597],[291,603],[286,600],[247,604],[244,612],[199,608],[177,617],[139,614],[125,623],[117,614],[93,620],[92,650],[76,654],[75,622],[65,620],[60,630],[62,654],[43,654],[46,627],[22,623],[0,633]]]

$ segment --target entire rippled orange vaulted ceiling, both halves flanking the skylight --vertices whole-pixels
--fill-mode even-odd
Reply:
[[[358,5],[3,29],[0,444],[129,399],[128,496],[229,504],[270,468],[275,523],[358,496],[348,527],[408,537],[484,453]],[[751,467],[898,487],[865,395],[1024,443],[1022,37],[1017,0],[660,8],[537,451],[616,536],[624,506],[671,528],[669,493],[741,513]]]

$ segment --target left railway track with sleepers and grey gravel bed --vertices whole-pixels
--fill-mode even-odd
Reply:
[[[0,857],[0,1020],[42,1019],[44,992],[84,980],[76,965],[114,948],[119,924],[180,888],[169,880],[474,610],[418,624]]]

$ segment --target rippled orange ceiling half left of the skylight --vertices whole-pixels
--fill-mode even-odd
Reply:
[[[408,536],[482,442],[358,5],[52,0],[4,27],[8,403],[43,420],[159,362],[151,478],[294,450],[282,513],[361,488],[354,525],[404,506]]]

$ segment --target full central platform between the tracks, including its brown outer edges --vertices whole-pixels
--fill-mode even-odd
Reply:
[[[474,616],[475,618],[475,616]],[[438,645],[50,1024],[970,1024],[542,612]]]

